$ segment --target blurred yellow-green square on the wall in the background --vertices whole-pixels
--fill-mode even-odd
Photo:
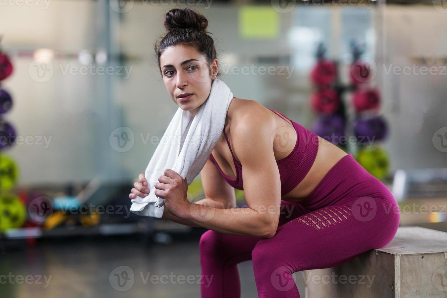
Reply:
[[[244,6],[239,10],[239,34],[248,39],[272,39],[279,35],[278,12],[271,6]]]

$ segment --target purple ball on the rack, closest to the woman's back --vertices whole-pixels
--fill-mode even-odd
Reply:
[[[323,116],[312,125],[312,132],[331,143],[338,144],[345,133],[345,121],[339,115]]]

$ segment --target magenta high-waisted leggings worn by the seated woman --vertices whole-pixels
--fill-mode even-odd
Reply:
[[[259,297],[299,298],[292,273],[337,266],[388,244],[399,226],[396,199],[352,154],[299,203],[281,201],[272,238],[208,230],[199,242],[202,298],[239,298],[237,264],[253,260]],[[212,279],[211,279],[212,278]]]

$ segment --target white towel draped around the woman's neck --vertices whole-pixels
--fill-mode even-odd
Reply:
[[[165,169],[172,169],[183,179],[186,177],[187,184],[191,184],[222,134],[232,98],[227,84],[216,78],[210,95],[194,117],[189,111],[177,109],[144,174],[150,192],[146,197],[132,199],[133,213],[161,218],[164,201],[155,195],[154,185]]]

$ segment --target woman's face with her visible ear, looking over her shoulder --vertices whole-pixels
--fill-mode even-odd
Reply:
[[[195,116],[197,108],[210,95],[211,81],[217,75],[217,59],[210,67],[204,55],[194,48],[170,46],[160,56],[163,82],[169,96],[181,109]],[[183,97],[185,94],[192,94]],[[183,98],[182,98],[183,97]]]

